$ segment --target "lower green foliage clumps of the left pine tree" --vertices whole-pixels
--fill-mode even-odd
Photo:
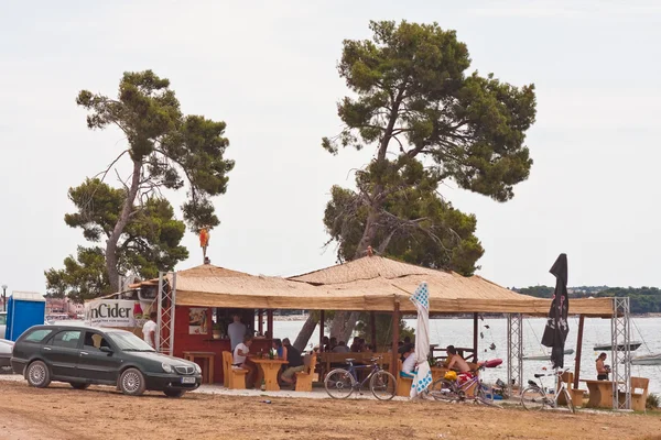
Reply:
[[[80,228],[93,243],[107,240],[127,191],[95,178],[71,188],[68,194],[77,212],[65,216],[66,224]],[[177,262],[188,257],[188,251],[180,245],[186,227],[174,218],[174,210],[165,199],[150,196],[141,205],[140,209],[132,209],[134,215],[119,237],[118,268],[121,273],[153,278],[160,271],[172,271]],[[56,297],[68,295],[82,301],[112,292],[100,246],[79,248],[77,257],[65,258],[64,270],[51,268],[45,275],[47,292]]]

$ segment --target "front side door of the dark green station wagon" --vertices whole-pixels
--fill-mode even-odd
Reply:
[[[107,346],[112,352],[101,351],[101,346]],[[90,382],[115,383],[122,363],[118,354],[119,351],[102,333],[86,330],[78,359],[78,374]]]

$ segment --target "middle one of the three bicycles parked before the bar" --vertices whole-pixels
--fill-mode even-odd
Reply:
[[[473,377],[459,383],[458,380],[447,380],[445,377],[436,380],[430,387],[429,395],[436,400],[444,402],[466,402],[470,399],[476,404],[484,404],[500,408],[500,406],[494,403],[494,389],[490,388],[487,394],[483,381],[479,378],[478,373],[485,369],[492,369],[502,363],[502,360],[495,359],[487,361],[479,365],[477,369],[470,371]],[[474,389],[474,391],[472,391]]]

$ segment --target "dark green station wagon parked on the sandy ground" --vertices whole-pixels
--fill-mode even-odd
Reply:
[[[37,388],[57,381],[76,389],[116,385],[131,396],[150,389],[181,397],[202,383],[196,363],[156,353],[124,330],[83,326],[31,327],[15,343],[11,366]]]

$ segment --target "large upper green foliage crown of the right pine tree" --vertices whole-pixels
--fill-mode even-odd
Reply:
[[[372,40],[344,42],[338,70],[356,97],[338,102],[345,128],[323,147],[336,154],[339,145],[376,144],[381,162],[394,144],[391,153],[427,157],[437,180],[512,198],[532,165],[523,142],[535,117],[534,86],[467,75],[466,45],[436,23],[382,21],[370,29]]]

